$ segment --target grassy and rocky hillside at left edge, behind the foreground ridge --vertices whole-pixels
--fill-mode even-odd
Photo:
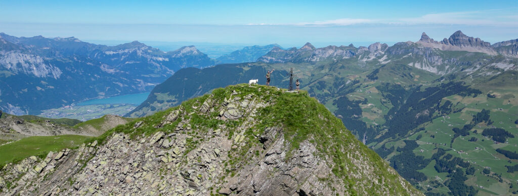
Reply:
[[[111,115],[81,122],[3,113],[0,118],[0,165],[30,156],[45,156],[49,151],[76,148],[88,138],[128,121],[130,119]]]

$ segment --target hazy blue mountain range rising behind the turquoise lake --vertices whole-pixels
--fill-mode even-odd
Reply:
[[[35,114],[92,97],[145,92],[181,68],[216,63],[194,46],[162,52],[138,41],[106,46],[0,33],[0,109]]]

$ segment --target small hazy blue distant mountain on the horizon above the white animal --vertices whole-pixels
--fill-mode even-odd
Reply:
[[[223,55],[217,59],[222,63],[255,62],[259,57],[270,52],[274,47],[281,48],[281,46],[277,44],[246,46],[241,50],[234,51],[228,55]]]

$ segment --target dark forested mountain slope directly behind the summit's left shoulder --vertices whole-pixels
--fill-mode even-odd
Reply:
[[[212,68],[187,68],[178,71],[164,83],[157,85],[148,99],[135,110],[127,113],[128,117],[142,117],[178,105],[185,100],[200,96],[214,88],[239,83],[248,83],[250,79],[258,79],[258,84],[266,84],[266,72],[271,69],[255,66],[251,63],[221,64]],[[272,86],[279,86],[286,71],[272,72]],[[210,82],[208,83],[208,79]]]

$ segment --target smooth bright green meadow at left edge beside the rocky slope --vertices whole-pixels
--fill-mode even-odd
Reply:
[[[0,166],[16,162],[33,155],[45,156],[50,151],[75,148],[81,145],[88,136],[32,136],[0,146]]]

